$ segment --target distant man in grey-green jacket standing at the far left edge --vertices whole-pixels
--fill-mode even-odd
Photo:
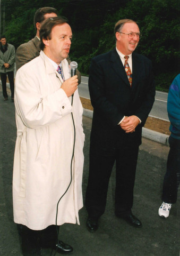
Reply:
[[[8,100],[6,90],[6,80],[10,82],[11,100],[14,101],[14,62],[15,62],[15,48],[12,44],[7,44],[6,37],[1,36],[0,49],[0,73],[3,88],[4,100]]]

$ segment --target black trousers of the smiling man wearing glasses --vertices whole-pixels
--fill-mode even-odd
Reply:
[[[85,206],[91,217],[99,218],[105,211],[109,178],[116,161],[115,214],[123,217],[131,213],[133,189],[139,146],[131,142],[115,150],[114,154],[97,152],[90,145],[89,179]]]

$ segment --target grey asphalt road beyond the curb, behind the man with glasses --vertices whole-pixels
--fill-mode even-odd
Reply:
[[[78,91],[81,97],[90,99],[87,76],[81,77],[81,84],[78,86]],[[149,116],[169,121],[167,114],[167,95],[165,92],[156,91],[155,103]]]

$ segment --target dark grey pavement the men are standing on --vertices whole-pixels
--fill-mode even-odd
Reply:
[[[87,187],[89,136],[91,118],[83,117],[85,133],[83,197]],[[3,100],[0,92],[0,255],[21,256],[20,241],[13,222],[12,172],[16,139],[14,103]],[[172,206],[168,219],[158,216],[161,189],[169,148],[143,138],[140,146],[134,188],[133,213],[143,224],[141,229],[129,226],[114,214],[115,170],[109,182],[107,206],[100,218],[99,229],[91,234],[85,227],[87,212],[80,210],[81,225],[60,227],[60,238],[73,246],[74,256],[179,256],[180,198]],[[50,256],[43,250],[43,256]],[[59,254],[56,254],[59,255]]]

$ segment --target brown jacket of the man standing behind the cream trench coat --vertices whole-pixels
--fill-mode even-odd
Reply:
[[[28,63],[29,61],[35,59],[40,54],[40,41],[35,36],[32,40],[30,40],[28,43],[21,44],[18,49],[16,50],[15,55],[15,63],[16,63],[16,70],[21,68],[25,63]],[[71,63],[70,58],[67,58],[68,63]],[[81,73],[77,69],[76,75],[78,75],[78,83],[81,83]]]

